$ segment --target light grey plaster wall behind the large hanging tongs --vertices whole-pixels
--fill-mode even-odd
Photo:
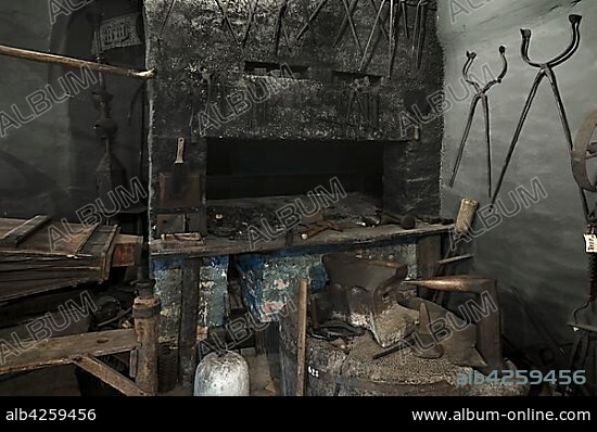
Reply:
[[[570,43],[570,13],[583,15],[582,45],[576,54],[556,72],[575,136],[585,115],[597,106],[596,1],[441,2],[439,33],[445,49],[445,87],[452,88],[457,99],[463,99],[467,94],[460,78],[466,51],[478,53],[473,69],[483,76],[483,64],[498,73],[498,47],[504,45],[508,50],[509,73],[504,84],[494,87],[490,93],[494,187],[537,73],[521,59],[520,28],[533,30],[531,58],[545,61],[559,54]],[[442,211],[445,215],[456,214],[462,196],[479,200],[481,206],[488,203],[481,116],[472,126],[456,185],[454,189],[446,186],[467,122],[469,101],[470,98],[461,102],[452,98],[453,107],[445,113],[442,158]],[[541,181],[548,196],[529,208],[523,206],[516,216],[504,217],[499,225],[479,237],[473,245],[475,271],[498,279],[506,335],[526,348],[541,345],[544,340],[512,297],[510,287],[518,288],[548,331],[560,343],[566,343],[572,338],[566,322],[571,318],[572,310],[584,303],[587,284],[587,257],[583,241],[586,225],[548,81],[539,89],[501,189],[501,199],[508,208],[515,207],[508,192],[520,186],[531,191],[533,178]],[[592,202],[593,198],[589,205]],[[475,224],[477,230],[483,229],[483,220],[480,219]],[[589,319],[589,315],[585,314],[585,319]]]

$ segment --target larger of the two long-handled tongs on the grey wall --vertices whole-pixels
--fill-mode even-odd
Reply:
[[[515,131],[515,136],[512,138],[512,142],[510,143],[510,148],[508,149],[508,153],[506,155],[506,161],[504,163],[504,167],[501,168],[501,173],[499,175],[499,180],[497,181],[497,187],[493,193],[492,196],[492,204],[495,204],[497,196],[499,195],[499,191],[501,189],[501,185],[504,182],[504,178],[506,177],[506,173],[508,171],[508,167],[510,165],[510,161],[512,158],[512,154],[515,153],[516,145],[520,139],[520,135],[522,132],[522,128],[524,126],[524,123],[526,120],[526,117],[529,116],[529,112],[531,111],[531,106],[533,104],[533,101],[535,99],[535,96],[537,94],[538,87],[543,79],[547,77],[549,80],[549,84],[551,85],[551,90],[554,92],[554,97],[556,98],[556,104],[558,106],[558,111],[560,113],[560,119],[562,123],[563,131],[566,135],[566,140],[568,142],[569,151],[572,151],[574,148],[574,144],[572,142],[572,132],[570,131],[570,124],[568,123],[568,117],[566,115],[566,109],[563,106],[563,101],[560,94],[560,90],[558,88],[558,81],[556,80],[556,74],[554,73],[554,68],[559,66],[560,64],[564,63],[567,60],[572,58],[576,50],[579,49],[581,45],[581,15],[570,15],[569,21],[572,25],[572,41],[568,46],[568,48],[558,56],[554,58],[552,60],[546,62],[546,63],[535,63],[532,62],[529,59],[529,46],[531,45],[531,30],[530,29],[521,29],[522,34],[522,47],[521,47],[521,55],[522,60],[524,60],[528,64],[530,64],[533,67],[537,67],[539,72],[537,73],[537,76],[535,77],[535,81],[533,82],[533,87],[531,87],[531,92],[529,94],[529,98],[526,99],[526,102],[524,103],[524,109],[522,110],[522,114],[520,116],[520,120],[518,123],[517,129]],[[588,204],[586,200],[585,192],[581,187],[579,187],[579,191],[581,193],[581,201],[583,204],[583,209],[585,213],[585,218],[588,216]]]

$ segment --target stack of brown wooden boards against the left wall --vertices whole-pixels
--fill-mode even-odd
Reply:
[[[117,226],[0,218],[0,301],[101,283],[112,267],[137,264],[141,246]]]

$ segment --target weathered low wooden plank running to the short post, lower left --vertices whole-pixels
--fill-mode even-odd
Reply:
[[[124,353],[136,350],[138,342],[135,329],[126,329],[51,338],[39,343],[23,341],[23,345],[31,346],[18,355],[2,352],[0,374],[66,365],[84,356]]]

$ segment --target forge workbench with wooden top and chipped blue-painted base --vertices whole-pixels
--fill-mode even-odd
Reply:
[[[348,214],[351,208],[346,211]],[[442,237],[452,227],[422,223],[410,230],[394,225],[355,226],[308,240],[296,237],[291,244],[285,236],[253,245],[246,239],[214,236],[202,241],[153,240],[151,267],[163,305],[160,342],[178,352],[182,380],[190,383],[198,329],[225,325],[230,266],[240,274],[252,316],[258,322],[269,322],[276,320],[276,313],[298,279],[308,279],[313,290],[323,288],[327,275],[322,255],[354,252],[369,258],[402,261],[408,265],[409,278],[428,277],[441,258]]]

